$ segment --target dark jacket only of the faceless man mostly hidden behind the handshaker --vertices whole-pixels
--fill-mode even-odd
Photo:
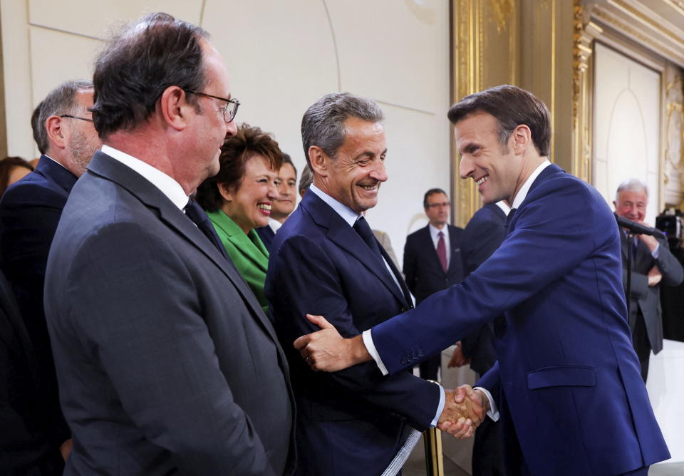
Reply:
[[[463,270],[469,275],[492,256],[506,237],[506,214],[495,203],[484,205],[475,212],[461,238]],[[461,340],[463,355],[470,358],[470,368],[480,375],[497,361],[494,348],[494,326],[491,322],[480,326]]]

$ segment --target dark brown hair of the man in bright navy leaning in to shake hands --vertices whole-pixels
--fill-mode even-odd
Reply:
[[[506,145],[518,125],[527,125],[532,131],[532,143],[539,155],[549,155],[551,120],[549,108],[532,93],[517,86],[504,84],[466,96],[452,105],[447,117],[452,124],[468,115],[484,112],[499,122],[499,143]]]

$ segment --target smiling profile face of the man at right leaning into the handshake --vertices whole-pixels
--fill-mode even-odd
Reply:
[[[513,150],[515,131],[502,145],[497,119],[488,113],[474,113],[455,124],[454,135],[461,156],[461,178],[475,180],[485,204],[499,200],[512,203],[527,179],[522,154]]]

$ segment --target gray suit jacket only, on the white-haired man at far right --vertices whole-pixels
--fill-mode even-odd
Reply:
[[[627,287],[627,237],[620,233],[622,246],[623,286]],[[670,253],[668,242],[658,239],[658,259],[653,259],[651,250],[641,240],[636,240],[636,254],[632,261],[631,306],[629,311],[629,326],[634,329],[636,314],[641,311],[646,324],[648,341],[653,353],[663,349],[663,318],[660,310],[660,286],[676,286],[682,282],[684,271],[677,258]],[[660,269],[663,280],[656,286],[648,286],[648,271],[654,266]]]

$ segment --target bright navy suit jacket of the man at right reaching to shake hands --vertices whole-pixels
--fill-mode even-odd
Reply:
[[[492,257],[375,326],[375,348],[394,373],[505,314],[495,326],[499,361],[478,385],[494,396],[502,389],[498,403],[532,474],[619,475],[665,460],[632,348],[620,254],[603,197],[550,165]]]

